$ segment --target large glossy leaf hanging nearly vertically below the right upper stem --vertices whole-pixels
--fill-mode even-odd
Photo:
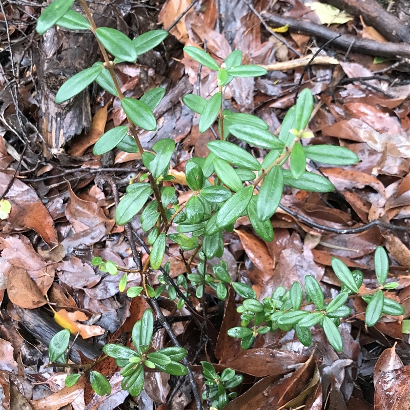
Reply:
[[[276,212],[283,193],[283,172],[278,165],[265,176],[256,202],[258,219],[264,222]]]

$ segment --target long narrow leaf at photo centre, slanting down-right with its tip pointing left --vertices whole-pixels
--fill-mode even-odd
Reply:
[[[217,157],[222,158],[237,167],[259,171],[262,167],[259,161],[249,152],[228,141],[210,141],[208,149]]]

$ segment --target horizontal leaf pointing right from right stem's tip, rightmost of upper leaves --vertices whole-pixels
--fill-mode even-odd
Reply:
[[[311,145],[303,147],[306,158],[331,165],[353,165],[359,157],[350,149],[335,145]]]

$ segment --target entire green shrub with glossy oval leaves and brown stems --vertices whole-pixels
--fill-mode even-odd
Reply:
[[[137,182],[127,187],[119,200],[115,212],[118,225],[127,225],[141,212],[141,229],[147,232],[146,247],[149,257],[142,264],[140,256],[133,254],[138,261],[137,269],[119,267],[110,260],[95,257],[92,264],[101,272],[117,275],[124,272],[119,291],[127,289],[128,273],[141,275],[141,286],[127,290],[129,297],[145,297],[153,306],[157,319],[167,330],[173,347],[152,351],[153,313],[148,309],[142,319],[137,321],[132,332],[133,348],[109,343],[104,347],[107,356],[115,358],[122,368],[124,377],[122,388],[137,396],[144,386],[145,367],[156,369],[176,376],[188,373],[194,396],[197,387],[188,367],[187,351],[178,345],[175,335],[157,304],[156,298],[167,296],[175,300],[177,309],[189,304],[189,286],[193,286],[196,296],[203,299],[206,286],[210,286],[220,300],[226,299],[228,287],[232,286],[242,300],[237,310],[241,313],[241,326],[229,330],[231,337],[240,338],[242,348],[249,348],[258,335],[295,330],[299,340],[306,346],[312,341],[310,328],[319,324],[336,351],[342,351],[342,340],[337,329],[340,320],[351,313],[346,305],[351,297],[358,297],[363,281],[360,271],[351,272],[339,259],[332,260],[332,267],[339,278],[341,292],[332,300],[325,300],[320,284],[312,276],[306,276],[304,290],[298,282],[290,290],[282,286],[271,297],[262,302],[256,299],[254,290],[240,282],[233,282],[224,261],[214,264],[212,273],[208,272],[207,261],[221,257],[224,250],[223,232],[232,232],[234,224],[241,216],[247,215],[255,232],[265,241],[272,241],[274,232],[270,218],[276,212],[282,198],[284,187],[291,187],[310,192],[332,192],[334,186],[324,176],[306,171],[306,161],[313,160],[334,166],[353,165],[359,158],[352,151],[334,145],[306,144],[314,135],[306,127],[309,124],[314,98],[309,89],[303,89],[294,107],[286,113],[278,135],[269,131],[269,125],[255,115],[232,112],[223,107],[223,88],[235,77],[255,77],[267,73],[264,68],[255,65],[242,65],[242,52],[234,50],[221,65],[207,52],[198,47],[185,47],[185,53],[200,65],[217,72],[217,91],[209,98],[189,94],[183,103],[200,115],[201,133],[214,127],[217,121],[218,138],[208,142],[210,154],[206,158],[191,158],[186,163],[186,180],[192,191],[190,199],[178,204],[175,188],[164,187],[163,182],[171,181],[170,162],[175,150],[175,141],[170,138],[158,141],[153,152],[145,151],[138,138],[137,128],[155,131],[156,120],[153,110],[158,106],[165,90],[154,88],[139,99],[124,97],[115,74],[115,66],[124,61],[134,63],[138,56],[158,46],[168,35],[166,31],[154,30],[130,39],[118,30],[96,27],[92,14],[85,0],[78,0],[85,16],[71,10],[73,0],[55,0],[39,16],[37,32],[44,34],[53,25],[74,29],[90,30],[96,38],[104,61],[97,61],[92,67],[78,72],[61,86],[56,94],[56,102],[64,103],[96,83],[120,100],[128,126],[117,126],[107,131],[96,142],[93,152],[101,155],[115,147],[119,150],[139,152],[146,168]],[[266,155],[260,163],[249,151],[229,141],[230,135],[244,143],[265,150]],[[289,166],[288,166],[289,163]],[[286,166],[285,166],[286,164]],[[289,168],[289,169],[288,169]],[[214,178],[210,178],[214,176]],[[259,192],[258,192],[259,190]],[[176,232],[169,233],[171,226]],[[133,236],[127,234],[129,241]],[[166,243],[175,242],[184,251],[192,251],[185,260],[187,274],[179,275],[176,280],[169,275],[169,262],[162,268],[166,252]],[[146,244],[144,243],[146,246]],[[191,270],[195,255],[199,256],[196,271]],[[365,321],[368,326],[378,322],[381,315],[401,315],[400,304],[385,296],[383,291],[394,289],[397,284],[386,283],[388,259],[383,248],[378,247],[375,255],[376,276],[379,288],[372,293],[359,294],[367,303]],[[161,270],[158,280],[160,285],[153,289],[148,281],[152,270]],[[312,308],[312,306],[314,306]],[[203,306],[204,309],[204,306]],[[50,360],[66,362],[65,352],[69,343],[69,331],[64,330],[54,336],[49,346]],[[104,356],[98,360],[104,360]],[[180,363],[182,361],[182,363]],[[98,361],[97,361],[98,362]],[[85,367],[83,373],[89,374],[91,385],[97,394],[110,394],[109,381],[93,370],[93,365]],[[212,405],[222,408],[235,393],[228,393],[242,381],[232,369],[226,369],[217,375],[214,367],[202,362],[203,376],[209,387],[208,396]],[[71,374],[66,385],[73,385],[80,374]],[[200,396],[196,394],[197,408],[201,408]],[[199,403],[198,403],[199,400]]]

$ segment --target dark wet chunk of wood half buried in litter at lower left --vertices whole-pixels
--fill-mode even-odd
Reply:
[[[63,330],[46,312],[40,309],[23,309],[15,306],[15,311],[20,317],[20,324],[31,333],[43,346],[48,347],[52,337]],[[74,341],[74,336],[70,336],[70,346]],[[77,337],[73,347],[70,350],[69,357],[74,363],[81,363],[78,351],[83,353],[89,359],[96,359],[101,355],[91,343],[87,343],[80,337]]]

